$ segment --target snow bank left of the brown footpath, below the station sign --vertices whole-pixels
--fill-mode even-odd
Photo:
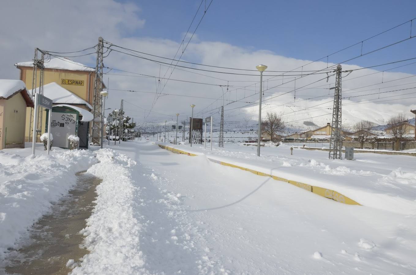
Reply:
[[[96,162],[88,150],[53,150],[35,158],[0,151],[0,260],[76,183],[75,173]]]

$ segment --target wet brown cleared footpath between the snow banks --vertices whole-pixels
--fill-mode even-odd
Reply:
[[[79,235],[91,215],[100,179],[77,173],[77,185],[52,206],[49,214],[32,226],[30,234],[21,240],[20,249],[12,250],[5,259],[8,274],[68,274],[68,260],[88,253],[79,247],[84,237]]]

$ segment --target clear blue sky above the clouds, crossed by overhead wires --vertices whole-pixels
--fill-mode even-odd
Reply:
[[[207,5],[210,0],[207,0]],[[145,27],[130,35],[180,41],[201,1],[135,1]],[[205,5],[205,0],[203,6]],[[197,16],[198,20],[201,13]],[[416,1],[249,1],[214,0],[198,28],[198,38],[282,56],[314,60],[416,17]],[[192,28],[191,28],[192,30]],[[365,42],[363,52],[410,34],[410,25]],[[416,22],[413,24],[416,34]],[[413,41],[401,43],[354,64],[406,59]],[[335,63],[361,52],[353,47],[329,59]],[[416,53],[414,53],[416,56]],[[406,68],[407,69],[407,68]],[[401,71],[404,71],[403,69]],[[410,71],[409,71],[410,72]]]

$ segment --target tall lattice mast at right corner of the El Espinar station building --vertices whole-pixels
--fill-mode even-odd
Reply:
[[[92,145],[101,145],[103,134],[102,123],[102,77],[103,77],[103,38],[98,37],[97,44],[97,61],[95,67],[95,81],[94,81],[94,99],[93,99],[93,112],[94,119],[92,120]]]

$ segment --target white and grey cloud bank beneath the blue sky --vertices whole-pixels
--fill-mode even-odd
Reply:
[[[0,24],[2,26],[8,26],[7,28],[2,27],[0,29],[0,37],[2,37],[2,43],[0,44],[0,58],[3,61],[2,64],[5,64],[0,69],[0,78],[18,78],[18,70],[15,69],[13,64],[18,61],[29,61],[33,58],[33,49],[39,47],[42,49],[53,50],[53,51],[73,51],[78,49],[84,49],[90,47],[97,43],[98,36],[104,37],[109,42],[114,44],[121,45],[123,47],[137,49],[141,52],[147,52],[151,54],[156,54],[159,56],[173,57],[178,50],[178,47],[181,42],[181,38],[178,38],[177,42],[169,39],[157,38],[157,37],[134,37],[134,31],[140,28],[151,27],[145,25],[145,18],[142,15],[141,9],[133,3],[118,3],[112,0],[102,0],[102,1],[7,1],[3,3],[3,8],[0,11]],[[35,15],[33,15],[35,14]],[[144,11],[143,14],[146,14]],[[214,15],[211,15],[214,16]],[[36,18],[36,20],[31,20]],[[36,22],[37,24],[33,23]],[[203,22],[201,23],[203,24]],[[42,27],[42,29],[41,29]],[[186,30],[184,30],[186,31]],[[198,38],[198,39],[195,39]],[[114,48],[117,49],[117,48]],[[157,59],[155,57],[146,56],[151,59]],[[87,56],[78,59],[75,61],[94,64],[95,56]],[[167,59],[157,59],[159,61],[164,61],[170,63],[171,61]],[[277,86],[282,83],[282,77],[274,77],[270,79],[270,71],[287,71],[294,69],[296,67],[301,67],[304,64],[309,63],[307,60],[300,60],[289,58],[285,56],[279,56],[276,53],[273,53],[268,50],[252,50],[238,47],[237,45],[227,44],[223,42],[212,42],[204,41],[203,37],[194,37],[183,54],[183,60],[193,61],[197,63],[210,64],[215,66],[226,66],[234,68],[245,68],[245,69],[255,69],[255,66],[262,63],[269,66],[265,72],[264,80],[265,88],[270,88]],[[391,60],[386,60],[391,61]],[[411,62],[411,61],[409,61]],[[380,64],[384,61],[380,61]],[[161,66],[155,64],[154,62],[139,59],[136,57],[128,56],[125,54],[120,54],[117,52],[111,52],[111,54],[104,60],[105,66],[122,69],[125,71],[133,71],[140,74],[147,74],[151,76],[165,76],[166,78],[171,77],[172,79],[183,79],[187,81],[195,82],[204,82],[204,83],[215,83],[220,85],[230,85],[229,90],[231,92],[227,93],[225,103],[235,100],[235,98],[240,99],[249,94],[254,94],[253,90],[258,91],[258,84],[253,86],[243,88],[242,86],[250,85],[250,82],[235,82],[235,81],[258,81],[259,76],[257,71],[249,72],[250,74],[255,74],[255,76],[239,76],[239,75],[230,75],[230,74],[214,74],[206,71],[193,71],[191,69],[184,69],[177,67],[173,73],[172,69],[167,70],[166,66]],[[174,62],[176,64],[176,62]],[[183,66],[189,66],[183,63],[179,63]],[[329,64],[330,66],[333,64]],[[399,64],[398,64],[399,65]],[[327,66],[326,62],[314,62],[308,66],[304,66],[303,70],[317,70],[323,69]],[[391,67],[394,67],[395,64],[392,64]],[[215,69],[211,67],[204,66],[193,66],[199,69],[208,69],[214,71],[230,71],[237,73],[247,73],[246,71],[231,71],[223,69]],[[343,69],[357,69],[358,66],[355,65],[343,65]],[[383,67],[383,69],[389,68],[388,66]],[[301,70],[301,69],[299,69]],[[106,70],[107,71],[107,70]],[[192,72],[189,72],[192,71]],[[155,95],[152,93],[135,93],[135,92],[126,92],[126,91],[114,91],[111,89],[125,89],[125,90],[135,90],[135,91],[148,91],[155,92],[161,91],[161,87],[166,83],[164,79],[154,79],[154,78],[144,78],[137,76],[116,76],[113,74],[125,74],[123,72],[112,70],[110,74],[104,76],[104,81],[107,77],[110,78],[110,96],[109,101],[107,101],[106,106],[110,108],[119,108],[119,102],[121,98],[124,98],[125,104],[124,108],[126,112],[135,117],[135,120],[143,120],[144,110],[137,108],[140,106],[146,110],[152,105]],[[357,76],[363,76],[365,74],[376,73],[369,76],[353,79]],[[289,73],[290,74],[290,73]],[[211,77],[209,77],[211,76]],[[300,89],[300,87],[307,85],[313,81],[316,81],[320,78],[324,78],[326,75],[316,75],[316,76],[307,76],[301,79],[296,80],[296,98],[298,100],[302,98],[311,98],[313,96],[324,96],[329,93],[329,84],[334,82],[334,76],[329,79],[329,82],[320,81],[315,84],[308,86],[315,87],[324,85],[322,88],[325,89]],[[390,91],[398,88],[409,88],[414,87],[415,84],[411,82],[416,82],[416,77],[410,77],[408,79],[402,79],[399,81],[391,81],[394,79],[403,78],[406,76],[412,76],[410,74],[404,73],[391,73],[384,72],[384,75],[377,73],[377,71],[372,69],[363,69],[360,71],[354,71],[349,76],[343,79],[343,92],[346,95],[349,92],[359,91],[358,93],[352,93],[354,95],[365,94],[365,93],[375,93],[378,91],[378,88],[381,88],[381,91]],[[284,82],[290,80],[289,77],[285,77]],[[269,79],[267,81],[267,79]],[[349,80],[351,79],[351,80]],[[159,82],[160,80],[160,82]],[[227,82],[230,81],[230,82]],[[367,88],[356,89],[357,87],[367,86],[371,84],[381,83],[383,84],[369,86]],[[391,82],[386,82],[391,81]],[[158,84],[161,83],[161,84]],[[406,84],[408,83],[408,84]],[[392,88],[382,88],[388,86],[394,86],[397,84],[406,84],[402,86],[392,87]],[[235,87],[238,86],[238,90],[235,91]],[[277,88],[270,89],[267,92],[272,93],[285,93],[291,91],[295,86],[294,81],[286,83]],[[333,86],[333,85],[332,85]],[[377,90],[364,91],[368,89],[376,88]],[[351,91],[349,91],[351,90]],[[195,83],[185,83],[180,81],[170,80],[167,82],[166,87],[163,89],[163,93],[171,94],[181,94],[188,96],[200,96],[208,98],[219,98],[223,91],[226,91],[226,87],[219,86],[208,86],[200,85]],[[331,90],[332,92],[333,90]],[[383,94],[384,96],[392,96],[400,93],[410,93],[413,90],[398,91]],[[270,96],[270,93],[265,93],[265,96]],[[409,97],[412,95],[408,95]],[[275,99],[267,100],[266,103],[282,105],[283,103],[288,103],[293,100],[293,92],[289,95],[279,96]],[[406,96],[403,96],[406,97]],[[350,98],[351,101],[360,101],[364,99],[377,98],[377,96],[366,96],[366,97],[357,97]],[[242,101],[246,102],[256,102],[258,95],[248,97]],[[321,98],[307,100],[307,106],[313,106],[319,104]],[[330,100],[329,98],[328,100]],[[181,113],[180,119],[186,118],[190,115],[191,103],[196,104],[195,111],[198,116],[202,117],[207,115],[207,111],[213,108],[219,107],[222,104],[222,101],[214,102],[212,99],[203,99],[203,98],[190,98],[190,97],[179,97],[179,96],[161,96],[158,98],[156,105],[153,110],[158,113],[171,114],[171,117],[166,117],[159,115],[157,113],[152,113],[149,115],[148,121],[163,121],[165,119],[170,120],[171,118],[175,119],[175,113]],[[291,108],[296,108],[295,104],[305,104],[305,101],[302,103],[290,103]],[[305,103],[304,103],[305,102]],[[394,109],[389,110],[399,110],[399,111],[408,111],[410,108],[409,100],[402,101],[393,101],[392,103],[397,103],[394,105]],[[133,103],[134,105],[130,104]],[[210,104],[212,106],[209,106]],[[385,103],[385,102],[384,102]],[[239,105],[238,105],[239,104]],[[226,106],[225,109],[235,108],[237,106],[243,106],[247,103],[233,103]],[[330,104],[329,104],[330,105]],[[380,112],[383,112],[385,106],[380,104],[363,104],[361,106],[372,106],[371,108],[379,109]],[[201,110],[209,106],[207,110],[204,110],[204,114],[201,113]],[[256,105],[255,105],[256,106]],[[360,105],[352,105],[358,108]],[[270,106],[269,106],[270,107]],[[253,109],[253,107],[250,107]],[[345,113],[349,112],[349,109],[352,107],[345,106]],[[255,108],[254,108],[255,109]],[[270,108],[273,109],[273,108]],[[265,109],[267,110],[267,109]],[[274,110],[280,111],[282,108],[276,106]],[[290,109],[284,109],[286,113],[290,112]],[[352,109],[351,109],[352,110]],[[326,110],[330,111],[330,110]],[[241,112],[241,110],[239,111]],[[146,112],[147,113],[147,112]],[[297,114],[297,118],[301,119],[303,116],[302,112]],[[233,115],[235,113],[232,113]],[[250,117],[253,116],[255,112],[250,113]],[[410,114],[410,113],[409,113]],[[183,115],[183,116],[182,116]],[[304,116],[313,116],[314,113],[304,113]],[[226,120],[230,119],[231,111],[226,112]],[[238,117],[238,116],[237,116]],[[234,117],[235,118],[235,117]],[[255,118],[255,115],[254,115]],[[321,122],[321,121],[320,121]]]

